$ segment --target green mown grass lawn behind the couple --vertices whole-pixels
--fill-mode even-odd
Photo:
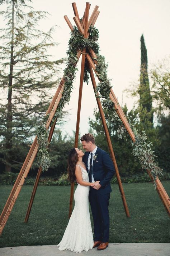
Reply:
[[[170,194],[170,181],[162,181]],[[70,186],[39,186],[24,223],[33,186],[23,186],[0,237],[0,247],[57,244],[68,223]],[[76,188],[76,186],[75,186]],[[152,183],[123,184],[131,218],[127,218],[117,184],[109,200],[111,243],[170,242],[170,218]],[[0,212],[12,189],[0,187]],[[91,217],[91,222],[93,220]]]

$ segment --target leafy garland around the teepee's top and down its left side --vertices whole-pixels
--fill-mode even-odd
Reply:
[[[50,126],[53,125],[55,120],[60,121],[62,118],[62,109],[66,103],[70,101],[71,91],[73,89],[73,81],[75,79],[75,73],[77,71],[77,62],[78,59],[76,57],[77,51],[82,48],[93,48],[98,53],[99,46],[96,43],[99,37],[98,30],[94,27],[90,27],[90,36],[89,39],[84,38],[83,35],[79,33],[77,28],[74,26],[74,30],[71,32],[71,37],[69,40],[69,49],[67,50],[68,60],[66,68],[64,69],[64,90],[62,93],[62,97],[56,109],[55,115],[50,123]],[[86,67],[86,72],[84,75],[84,82],[88,83],[89,69]],[[50,157],[48,153],[48,134],[46,130],[46,122],[48,120],[49,114],[42,118],[41,124],[36,129],[36,135],[38,140],[38,162],[42,167],[42,171],[47,171],[50,165]]]

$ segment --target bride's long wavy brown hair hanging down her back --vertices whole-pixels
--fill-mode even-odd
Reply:
[[[72,148],[69,152],[69,156],[68,156],[68,160],[67,160],[67,164],[68,164],[67,171],[69,174],[68,179],[71,182],[74,182],[76,180],[75,169],[76,169],[77,161],[78,161],[78,154],[77,154],[75,148]]]

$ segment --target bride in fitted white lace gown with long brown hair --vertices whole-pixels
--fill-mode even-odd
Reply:
[[[72,148],[68,157],[69,180],[77,182],[74,193],[75,206],[58,250],[71,250],[73,252],[88,251],[93,248],[93,234],[89,213],[89,186],[95,183],[89,182],[89,175],[85,164],[82,162],[84,153],[78,148]]]

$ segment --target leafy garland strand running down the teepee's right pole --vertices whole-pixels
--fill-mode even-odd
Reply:
[[[147,142],[147,136],[145,131],[138,133],[135,127],[131,126],[131,129],[135,135],[135,142],[133,142],[126,130],[126,127],[122,123],[122,120],[119,118],[115,108],[114,103],[110,100],[110,80],[107,77],[107,67],[105,64],[105,58],[101,55],[97,55],[98,65],[96,67],[96,71],[99,77],[99,84],[96,87],[96,90],[99,91],[100,97],[104,98],[102,100],[102,105],[104,109],[109,111],[109,120],[108,126],[117,123],[119,125],[117,130],[117,135],[119,139],[128,140],[133,146],[132,154],[135,158],[137,158],[140,162],[142,170],[148,170],[151,172],[151,175],[154,178],[154,187],[156,188],[156,177],[162,175],[162,169],[156,165],[155,163],[155,152],[152,151],[152,143]]]

